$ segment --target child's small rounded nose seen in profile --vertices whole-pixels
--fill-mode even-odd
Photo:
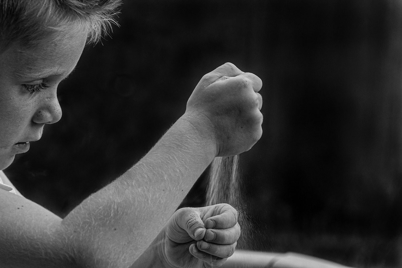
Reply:
[[[62,118],[62,108],[60,107],[57,96],[47,96],[39,104],[38,109],[33,115],[32,121],[37,124],[53,124]]]

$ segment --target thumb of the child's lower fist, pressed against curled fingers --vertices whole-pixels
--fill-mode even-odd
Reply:
[[[198,208],[180,208],[173,214],[167,228],[168,237],[177,243],[187,243],[204,238],[206,229]]]

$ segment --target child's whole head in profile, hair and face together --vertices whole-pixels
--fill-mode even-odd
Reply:
[[[61,118],[57,85],[117,0],[0,0],[0,170]]]

